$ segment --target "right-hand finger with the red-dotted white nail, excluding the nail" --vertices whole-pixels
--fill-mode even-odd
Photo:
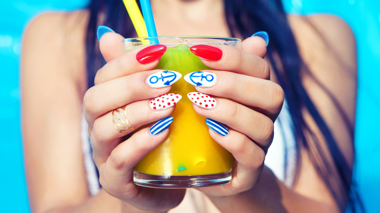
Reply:
[[[265,151],[273,139],[273,121],[262,113],[228,99],[215,98],[215,108],[206,109],[193,104],[201,116],[228,125],[256,142]]]

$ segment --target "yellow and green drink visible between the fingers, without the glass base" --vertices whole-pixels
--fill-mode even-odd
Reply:
[[[156,69],[178,71],[182,76],[193,71],[210,69],[186,44],[168,48]],[[173,84],[171,93],[186,96],[196,91],[183,78]],[[171,115],[168,139],[150,152],[135,171],[150,175],[207,175],[228,172],[232,168],[231,154],[209,136],[205,117],[198,115],[189,99],[183,98]]]

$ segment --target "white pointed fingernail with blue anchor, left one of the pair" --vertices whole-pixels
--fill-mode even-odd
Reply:
[[[159,71],[147,78],[147,83],[152,88],[163,88],[174,84],[182,77],[182,74],[176,71]]]

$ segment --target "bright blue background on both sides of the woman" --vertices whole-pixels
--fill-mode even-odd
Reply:
[[[283,0],[293,14],[326,13],[353,29],[358,49],[355,178],[368,213],[380,200],[380,1]],[[23,29],[44,11],[82,8],[87,0],[0,2],[0,212],[28,213],[20,131],[19,54]]]

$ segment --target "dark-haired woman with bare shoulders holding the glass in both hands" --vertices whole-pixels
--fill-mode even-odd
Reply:
[[[214,89],[197,89],[234,101],[218,98],[215,110],[194,106],[228,126],[226,136],[210,135],[235,158],[231,183],[186,191],[133,184],[133,165],[169,130],[152,135],[146,127],[122,137],[110,123],[111,113],[125,106],[133,127],[165,118],[173,107],[154,111],[146,103],[170,87],[154,89],[143,82],[136,84],[139,89],[128,87],[154,73],[159,57],[143,63],[136,57],[141,49],[121,55],[123,36],[136,36],[122,2],[93,0],[83,11],[41,15],[25,31],[22,123],[33,212],[327,213],[352,204],[356,50],[342,20],[285,16],[278,0],[152,0],[152,10],[158,35],[245,39],[242,50],[221,48],[220,59],[202,58],[222,81]],[[95,29],[101,24],[121,35],[100,28],[97,43]],[[250,36],[260,30],[270,35],[268,47],[265,34]],[[284,97],[290,119],[282,126],[293,135],[283,143],[293,144],[296,154],[280,180],[264,159]],[[81,147],[83,114],[102,186],[95,195],[89,192]]]

